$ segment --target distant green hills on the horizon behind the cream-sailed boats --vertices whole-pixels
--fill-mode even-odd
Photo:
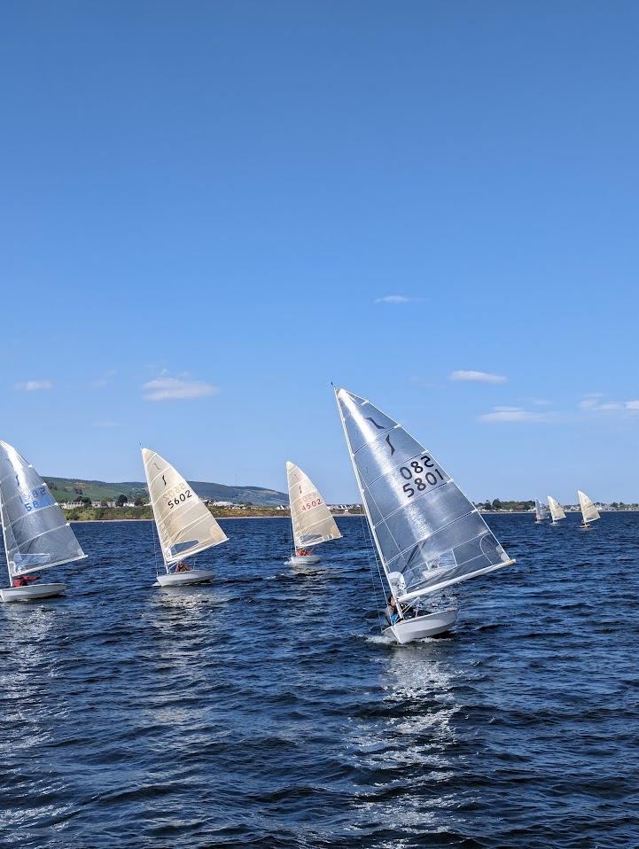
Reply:
[[[74,501],[84,495],[91,501],[115,501],[118,495],[126,495],[131,501],[137,497],[148,498],[146,484],[140,480],[125,480],[109,483],[105,480],[82,480],[80,478],[51,478],[43,476],[52,495],[59,502]],[[227,487],[224,484],[212,484],[202,480],[190,480],[189,483],[200,498],[208,501],[230,501],[234,504],[250,503],[263,507],[277,507],[288,504],[288,495],[277,489],[264,487]]]

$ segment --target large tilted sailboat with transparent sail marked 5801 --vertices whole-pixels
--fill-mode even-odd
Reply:
[[[440,463],[401,424],[346,389],[335,394],[366,517],[397,604],[397,617],[384,634],[398,643],[442,634],[457,611],[420,613],[425,596],[515,561]]]

